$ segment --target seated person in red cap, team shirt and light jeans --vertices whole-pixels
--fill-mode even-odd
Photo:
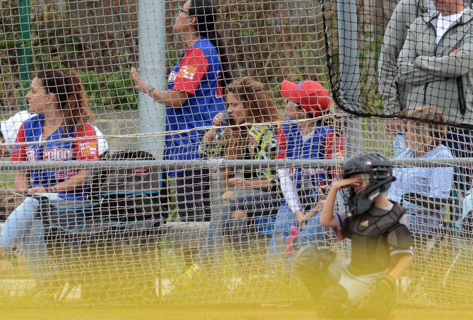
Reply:
[[[277,133],[277,159],[341,159],[342,139],[328,126],[321,116],[330,110],[331,99],[327,90],[316,81],[306,80],[293,83],[284,80],[281,93],[286,98],[284,106],[288,118]],[[274,232],[267,251],[267,263],[275,271],[281,262],[286,263],[286,271],[292,269],[292,259],[285,260],[288,240],[292,245],[302,242],[323,240],[323,230],[317,217],[321,201],[325,198],[323,189],[335,177],[332,172],[321,168],[278,169],[284,201],[279,209]],[[307,224],[307,225],[306,225]],[[294,227],[301,234],[294,238]],[[293,238],[291,238],[291,229]],[[299,233],[299,232],[297,232]],[[286,253],[287,256],[292,253]]]

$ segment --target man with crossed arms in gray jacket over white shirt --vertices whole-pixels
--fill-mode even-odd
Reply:
[[[438,13],[414,20],[398,57],[397,80],[411,86],[406,109],[436,106],[450,127],[446,143],[453,155],[473,157],[473,11],[463,0],[434,0]],[[462,128],[456,128],[461,126]],[[462,190],[473,171],[461,168]]]

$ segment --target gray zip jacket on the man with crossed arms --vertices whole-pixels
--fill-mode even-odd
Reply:
[[[410,26],[398,58],[398,82],[412,86],[407,108],[433,105],[449,124],[473,126],[473,11],[467,8],[436,45],[438,16],[425,14]]]

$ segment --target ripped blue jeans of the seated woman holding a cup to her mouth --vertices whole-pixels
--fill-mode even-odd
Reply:
[[[280,205],[279,194],[265,192],[257,189],[241,189],[232,191],[235,200],[219,198],[217,208],[220,212],[214,213],[207,231],[207,237],[203,247],[196,257],[196,261],[202,263],[203,259],[210,259],[215,254],[216,230],[220,228],[223,233],[227,227],[230,214],[242,210],[247,217],[274,216]],[[221,239],[223,241],[223,239]]]

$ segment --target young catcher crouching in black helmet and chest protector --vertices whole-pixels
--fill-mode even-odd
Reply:
[[[387,319],[397,300],[396,279],[412,262],[411,234],[404,208],[386,198],[391,162],[378,152],[361,152],[342,166],[330,188],[320,223],[339,240],[351,239],[351,259],[310,243],[296,256],[295,269],[315,298],[321,318]],[[334,213],[340,191],[347,211]]]

